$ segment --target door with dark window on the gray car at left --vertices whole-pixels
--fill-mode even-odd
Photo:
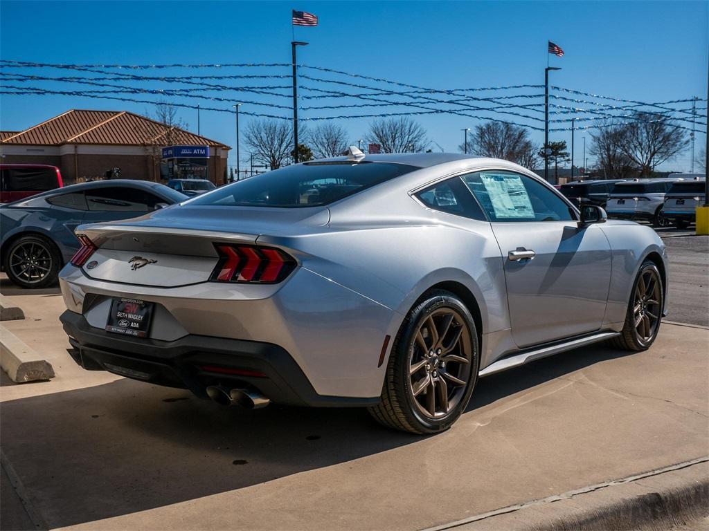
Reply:
[[[84,223],[129,219],[152,212],[164,199],[132,186],[102,186],[86,190]]]

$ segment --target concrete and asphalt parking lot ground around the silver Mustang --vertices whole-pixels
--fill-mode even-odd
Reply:
[[[664,239],[669,319],[706,324],[709,238]],[[86,372],[64,350],[57,290],[0,290],[26,314],[4,326],[57,372],[2,375],[4,529],[423,529],[709,453],[698,326],[664,324],[643,353],[597,345],[481,379],[450,431],[420,438],[358,409],[220,408]]]

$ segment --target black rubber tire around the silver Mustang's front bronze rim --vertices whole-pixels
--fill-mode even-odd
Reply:
[[[652,314],[657,314],[657,323],[652,326],[649,336],[642,338],[636,326],[637,292],[639,290],[638,285],[640,284],[641,279],[645,279],[648,276],[654,277],[658,283],[658,289],[655,290],[656,295],[654,295],[657,299],[653,299],[657,302],[657,304],[643,304],[643,308],[647,306]],[[664,285],[662,285],[662,276],[660,275],[657,265],[655,265],[654,262],[650,260],[644,261],[640,266],[640,271],[638,271],[635,282],[633,282],[632,285],[623,330],[620,332],[620,336],[615,336],[615,338],[610,340],[610,344],[615,348],[619,348],[621,350],[631,350],[632,352],[640,352],[640,350],[647,350],[650,348],[652,343],[654,343],[655,338],[657,338],[657,333],[660,329],[663,308]]]

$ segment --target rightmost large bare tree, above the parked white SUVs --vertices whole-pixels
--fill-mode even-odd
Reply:
[[[635,113],[632,121],[620,127],[618,148],[640,171],[649,177],[659,164],[679,154],[688,145],[687,135],[671,122],[671,117],[656,113]]]

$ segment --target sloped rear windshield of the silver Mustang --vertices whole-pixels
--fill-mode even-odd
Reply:
[[[310,163],[261,173],[223,186],[190,205],[314,207],[328,205],[418,168],[385,162]]]

